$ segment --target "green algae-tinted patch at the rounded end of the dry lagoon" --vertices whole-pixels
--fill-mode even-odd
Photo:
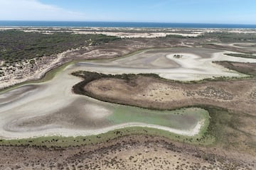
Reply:
[[[107,120],[113,124],[146,123],[179,130],[189,130],[193,128],[198,121],[206,119],[209,119],[208,112],[202,108],[156,111],[132,106],[117,106],[114,108],[114,113],[107,117]]]

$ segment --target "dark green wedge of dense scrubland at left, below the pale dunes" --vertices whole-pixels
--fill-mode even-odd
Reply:
[[[11,64],[31,60],[35,57],[55,55],[72,48],[100,45],[119,39],[102,34],[43,34],[21,30],[3,30],[0,31],[0,60],[5,61],[5,64]]]

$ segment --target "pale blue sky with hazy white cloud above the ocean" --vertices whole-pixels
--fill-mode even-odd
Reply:
[[[0,21],[256,24],[256,0],[0,0]]]

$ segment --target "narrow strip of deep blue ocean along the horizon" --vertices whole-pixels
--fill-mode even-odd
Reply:
[[[120,27],[120,28],[247,28],[249,24],[216,23],[139,23],[139,22],[85,22],[85,21],[0,21],[0,26],[8,27]]]

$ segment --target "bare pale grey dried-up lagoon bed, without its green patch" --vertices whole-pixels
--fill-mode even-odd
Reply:
[[[154,73],[166,79],[187,81],[209,77],[244,76],[212,64],[215,60],[255,62],[253,59],[228,57],[223,53],[225,52],[195,48],[146,50],[118,60],[79,62],[69,65],[50,81],[27,84],[1,94],[1,137],[14,139],[44,135],[93,135],[130,126],[146,126],[180,135],[196,135],[203,125],[201,118],[192,121],[186,129],[181,127],[176,129],[177,127],[171,127],[171,125],[162,126],[161,123],[158,125],[148,122],[139,123],[136,120],[125,123],[116,121],[118,124],[114,123],[114,120],[111,122],[107,118],[114,113],[117,106],[73,94],[72,86],[81,79],[73,77],[70,73],[78,70],[105,74]],[[180,55],[180,57],[175,57],[175,55]],[[129,109],[128,106],[118,107],[124,107],[124,110]]]

